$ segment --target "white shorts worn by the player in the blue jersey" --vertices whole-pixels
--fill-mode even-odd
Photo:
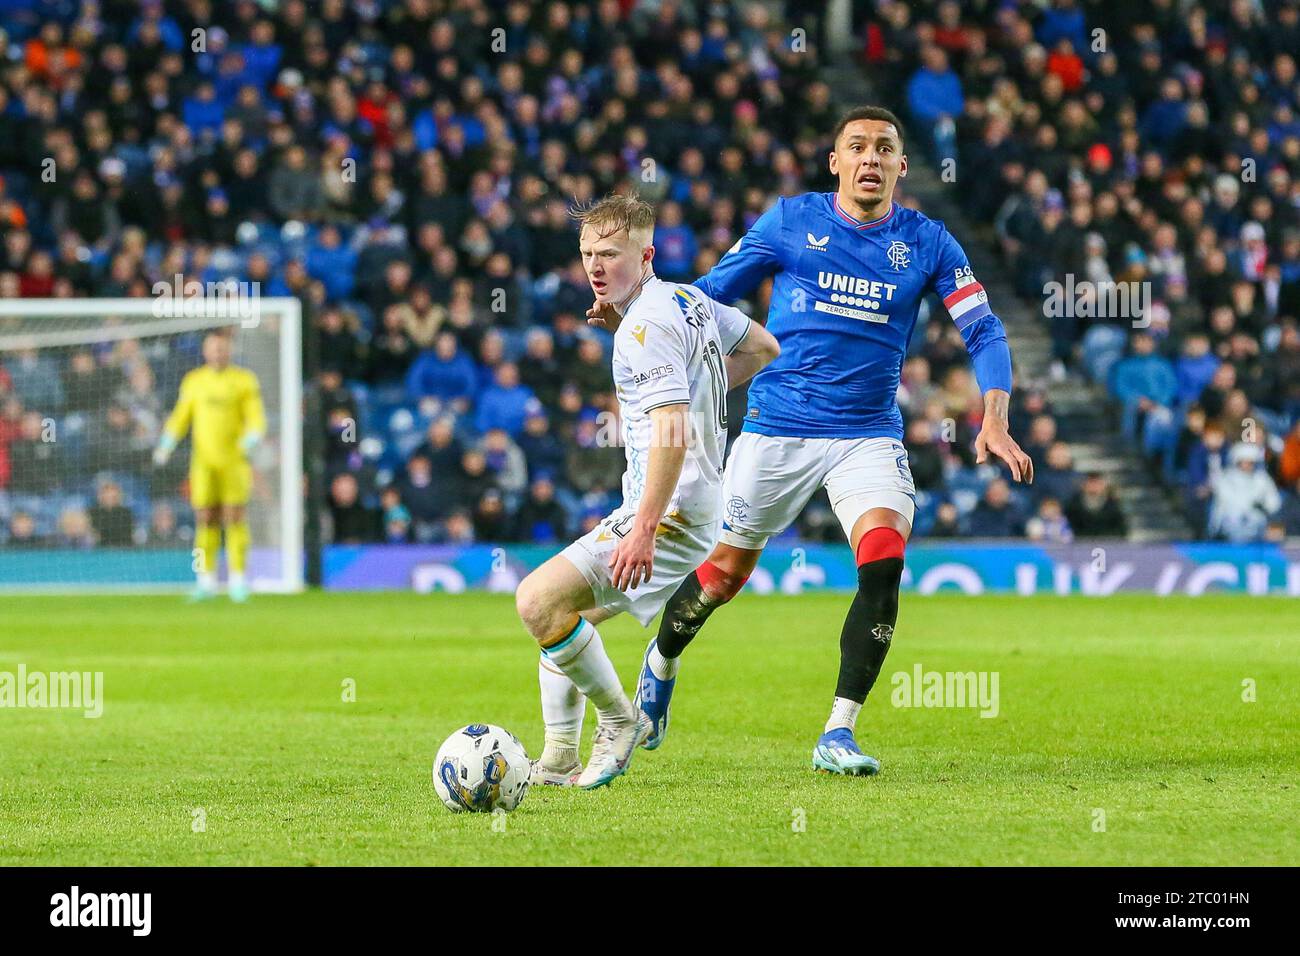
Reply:
[[[893,438],[786,438],[741,432],[723,473],[719,540],[762,550],[823,485],[845,537],[871,509],[897,511],[909,524],[916,512],[907,450]]]

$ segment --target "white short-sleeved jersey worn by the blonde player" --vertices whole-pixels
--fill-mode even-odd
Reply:
[[[690,406],[690,436],[681,477],[664,522],[684,527],[722,516],[723,454],[727,450],[727,368],[723,356],[740,345],[749,319],[696,286],[650,276],[614,336],[614,384],[628,459],[625,507],[645,492],[650,463],[650,411]]]

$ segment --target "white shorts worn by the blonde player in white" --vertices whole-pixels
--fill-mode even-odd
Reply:
[[[714,550],[722,519],[712,524],[673,525],[671,531],[660,531],[654,541],[650,580],[630,591],[619,591],[610,581],[610,558],[632,527],[633,518],[636,509],[620,507],[560,553],[592,585],[597,607],[614,614],[627,611],[641,622],[641,627],[649,627],[682,579],[703,564]]]

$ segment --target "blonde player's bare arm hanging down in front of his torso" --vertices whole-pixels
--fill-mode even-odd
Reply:
[[[610,555],[610,580],[619,591],[629,591],[650,580],[654,568],[654,538],[681,477],[690,440],[690,406],[662,405],[650,410],[650,460],[632,529]]]

